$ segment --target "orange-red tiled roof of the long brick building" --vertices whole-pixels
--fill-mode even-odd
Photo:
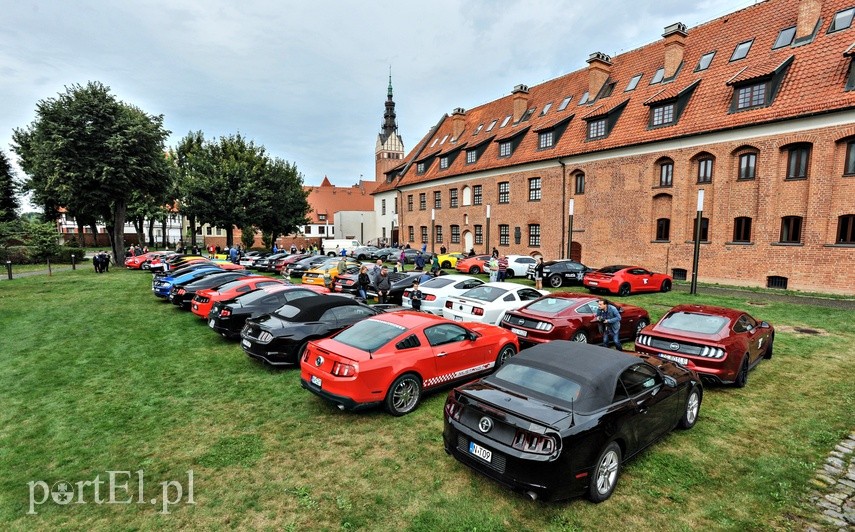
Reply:
[[[768,0],[688,29],[684,41],[683,65],[673,79],[664,83],[650,85],[653,74],[665,62],[664,39],[660,39],[612,58],[608,82],[615,82],[616,85],[613,94],[608,97],[578,105],[577,95],[588,90],[589,75],[588,69],[585,68],[529,87],[526,108],[535,107],[537,111],[529,121],[522,124],[509,122],[504,128],[500,127],[504,118],[513,114],[511,94],[469,109],[464,114],[465,132],[457,139],[459,143],[468,143],[468,149],[478,146],[482,139],[490,135],[495,136],[495,140],[502,140],[521,133],[523,129],[530,127],[531,130],[524,132],[511,157],[499,158],[498,148],[487,146],[474,164],[466,164],[465,157],[457,157],[441,173],[436,162],[421,175],[418,175],[410,164],[404,167],[404,175],[400,179],[381,184],[377,192],[481,170],[853,108],[855,91],[845,90],[846,76],[853,59],[844,54],[853,43],[855,27],[827,33],[834,14],[851,7],[852,1],[824,0],[820,13],[822,26],[812,42],[800,46],[772,49],[778,33],[796,24],[799,2]],[[659,29],[650,28],[651,33],[657,30]],[[730,61],[734,48],[750,39],[754,41],[747,57]],[[715,57],[709,68],[696,72],[701,56],[712,51],[715,51]],[[771,105],[731,112],[733,83],[744,83],[771,75],[790,57],[793,58],[792,64],[783,75],[783,81]],[[625,92],[629,80],[639,73],[643,76],[636,89]],[[649,127],[651,103],[680,96],[695,83],[697,86],[674,125]],[[561,101],[570,95],[574,95],[570,104],[563,111],[558,111]],[[563,120],[572,118],[574,114],[589,119],[604,115],[624,102],[627,105],[607,137],[587,140],[586,122],[579,119],[570,120],[554,148],[539,149],[536,132],[555,127]],[[552,103],[551,109],[541,115],[540,111],[548,103]],[[425,160],[426,156],[419,155],[425,153],[425,146],[433,143],[435,139],[441,140],[446,135],[449,139],[452,138],[453,121],[445,120],[446,116],[408,155],[408,161]],[[492,131],[488,132],[486,128],[493,120],[498,122]],[[479,125],[483,125],[480,131]],[[478,133],[475,134],[475,131]],[[450,149],[447,142],[442,149]],[[439,145],[434,148],[437,146]],[[430,149],[430,153],[433,154],[434,150]]]

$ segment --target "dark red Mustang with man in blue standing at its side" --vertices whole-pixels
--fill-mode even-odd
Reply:
[[[556,292],[505,313],[500,325],[516,334],[520,343],[541,344],[572,340],[599,344],[603,341],[597,316],[600,298],[587,294]],[[650,324],[647,311],[634,305],[612,304],[620,311],[620,339],[632,341]]]

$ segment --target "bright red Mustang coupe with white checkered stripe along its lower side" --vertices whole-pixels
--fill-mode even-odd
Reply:
[[[300,381],[342,410],[383,403],[402,416],[422,391],[489,373],[517,351],[516,335],[500,327],[400,311],[309,342]]]

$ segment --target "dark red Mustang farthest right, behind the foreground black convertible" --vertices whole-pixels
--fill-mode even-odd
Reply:
[[[748,371],[772,358],[775,329],[741,310],[678,305],[641,331],[635,350],[696,371],[714,383],[745,386]]]

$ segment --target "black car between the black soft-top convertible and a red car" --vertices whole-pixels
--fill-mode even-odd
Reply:
[[[297,299],[320,295],[317,290],[299,285],[266,286],[234,299],[214,303],[208,313],[208,327],[226,338],[239,338],[247,318],[269,314]]]

